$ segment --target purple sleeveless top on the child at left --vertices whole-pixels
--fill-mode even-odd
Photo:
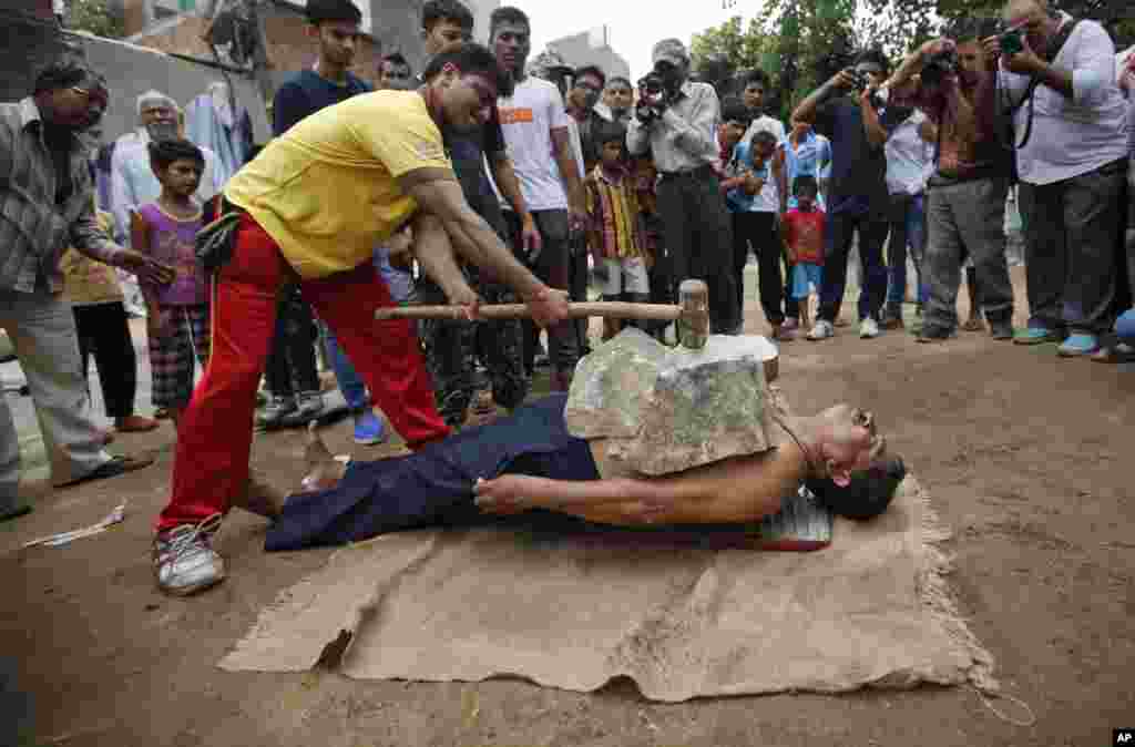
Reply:
[[[154,288],[163,307],[195,307],[208,300],[204,268],[197,262],[194,246],[202,217],[176,218],[157,202],[138,208],[150,228],[150,257],[174,268],[176,277],[169,285]]]

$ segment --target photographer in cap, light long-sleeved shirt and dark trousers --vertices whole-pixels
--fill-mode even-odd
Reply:
[[[717,94],[708,83],[688,81],[690,58],[676,39],[654,47],[654,73],[644,81],[627,131],[632,156],[654,153],[661,174],[658,211],[673,287],[689,277],[709,285],[709,325],[715,334],[737,334],[738,308],[732,274],[733,240],[714,162]]]

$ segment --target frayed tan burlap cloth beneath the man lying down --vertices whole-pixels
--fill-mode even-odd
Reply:
[[[630,531],[477,527],[344,547],[266,608],[226,670],[426,681],[616,677],[651,700],[860,687],[997,689],[948,588],[913,476],[874,521],[812,553],[667,544]]]

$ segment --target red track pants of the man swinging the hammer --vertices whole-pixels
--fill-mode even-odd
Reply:
[[[173,495],[158,530],[228,511],[249,477],[257,389],[276,325],[276,297],[294,277],[276,242],[250,216],[217,280],[212,355],[177,433]],[[393,305],[375,266],[302,280],[303,297],[335,331],[355,370],[411,448],[449,435],[409,320],[375,321]]]

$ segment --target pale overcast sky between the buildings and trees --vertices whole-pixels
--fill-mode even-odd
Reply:
[[[607,26],[611,47],[631,66],[631,79],[650,66],[650,48],[662,39],[676,36],[689,44],[695,33],[717,26],[740,9],[722,9],[722,0],[512,0],[532,20],[532,54],[544,51],[560,36]],[[502,0],[510,5],[510,0]],[[746,20],[748,24],[748,20]]]

